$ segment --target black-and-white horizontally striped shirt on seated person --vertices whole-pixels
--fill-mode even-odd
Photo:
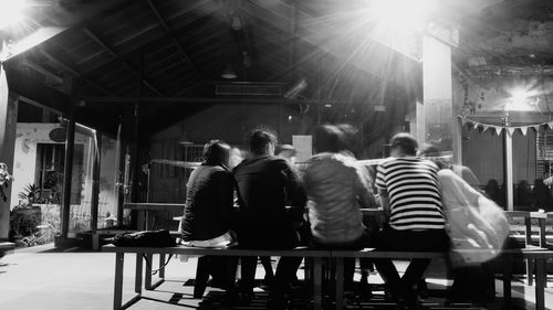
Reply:
[[[415,157],[388,158],[378,165],[376,186],[389,195],[392,228],[444,228],[437,173],[436,163]]]

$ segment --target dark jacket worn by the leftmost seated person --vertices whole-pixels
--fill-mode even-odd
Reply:
[[[232,173],[219,165],[200,165],[187,183],[184,240],[207,240],[225,234],[231,224]]]

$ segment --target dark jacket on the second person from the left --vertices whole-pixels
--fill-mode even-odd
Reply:
[[[300,218],[290,218],[286,205],[303,210],[306,197],[288,161],[271,156],[247,159],[234,168],[233,174],[240,205],[239,244],[252,248],[295,246],[292,224]]]

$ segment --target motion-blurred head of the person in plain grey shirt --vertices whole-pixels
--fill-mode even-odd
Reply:
[[[313,147],[315,152],[353,152],[355,129],[351,125],[322,125],[315,130]]]

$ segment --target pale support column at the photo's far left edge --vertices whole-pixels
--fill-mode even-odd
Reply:
[[[15,131],[18,128],[18,100],[9,95],[8,79],[2,64],[0,64],[0,162],[8,165],[8,172],[13,174],[13,153],[15,147]],[[4,202],[0,199],[0,242],[8,240],[10,232],[11,189],[4,188],[8,196]]]

